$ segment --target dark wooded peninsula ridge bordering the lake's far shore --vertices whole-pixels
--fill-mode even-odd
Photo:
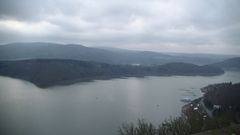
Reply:
[[[213,66],[169,63],[160,66],[111,65],[79,60],[28,59],[0,61],[0,75],[23,79],[39,87],[116,77],[203,75],[224,73]]]

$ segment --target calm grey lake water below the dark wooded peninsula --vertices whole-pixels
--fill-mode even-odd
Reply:
[[[124,122],[154,124],[180,115],[181,98],[200,88],[240,82],[239,72],[215,77],[145,77],[100,80],[40,89],[0,77],[0,131],[14,135],[116,135]]]

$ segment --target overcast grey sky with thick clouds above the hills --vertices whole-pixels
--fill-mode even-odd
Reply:
[[[238,54],[240,0],[1,0],[0,42]]]

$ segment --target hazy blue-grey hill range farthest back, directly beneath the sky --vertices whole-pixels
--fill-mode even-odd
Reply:
[[[158,53],[116,48],[93,48],[77,44],[12,43],[0,45],[0,60],[16,59],[72,59],[108,64],[161,65],[184,62],[197,65],[217,63],[232,55]]]

